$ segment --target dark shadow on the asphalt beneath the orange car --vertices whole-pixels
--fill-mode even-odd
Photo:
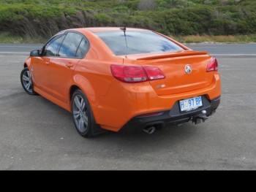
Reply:
[[[66,139],[68,138],[68,142],[77,142],[75,146],[79,147],[80,150],[85,150],[87,145],[97,145],[100,149],[112,147],[112,149],[110,148],[109,150],[120,149],[128,152],[141,150],[154,151],[165,148],[167,145],[170,147],[172,145],[177,145],[178,142],[188,141],[193,136],[197,135],[197,131],[200,129],[200,126],[195,126],[192,123],[184,123],[182,126],[167,125],[161,130],[154,131],[153,134],[146,134],[142,130],[133,133],[106,131],[103,134],[91,138],[84,138],[75,130],[75,126],[72,122],[72,115],[67,112],[67,110],[53,104],[42,96],[28,97],[30,97],[31,102],[34,103],[33,108],[40,109],[40,120],[54,120],[54,128],[59,129],[61,134],[64,135]],[[32,110],[34,111],[36,109]],[[63,129],[63,126],[66,128]],[[49,130],[50,127],[48,127],[48,131]],[[59,133],[59,131],[56,132]],[[53,134],[54,133],[55,132],[53,132]],[[48,133],[45,133],[45,135],[46,134]]]

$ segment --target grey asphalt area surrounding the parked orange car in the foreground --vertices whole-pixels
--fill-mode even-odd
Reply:
[[[256,57],[217,57],[222,100],[206,123],[93,139],[69,112],[23,91],[26,57],[0,54],[0,169],[256,169]]]

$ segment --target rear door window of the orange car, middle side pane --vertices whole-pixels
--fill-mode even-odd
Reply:
[[[59,56],[67,58],[75,58],[78,46],[82,40],[83,36],[76,33],[68,33],[62,42],[61,48],[59,50]]]

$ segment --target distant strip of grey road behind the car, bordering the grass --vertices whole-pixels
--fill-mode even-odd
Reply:
[[[15,53],[29,53],[31,50],[40,49],[41,44],[4,44],[0,43],[0,53],[15,52]],[[208,53],[214,55],[233,55],[233,54],[249,54],[256,55],[256,44],[188,44],[187,47],[193,50],[206,50]]]

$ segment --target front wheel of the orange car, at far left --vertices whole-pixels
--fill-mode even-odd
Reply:
[[[34,85],[31,80],[31,74],[29,72],[29,68],[25,67],[21,73],[20,73],[20,82],[23,87],[23,89],[28,93],[29,95],[35,96],[37,95],[36,92],[34,92]]]

